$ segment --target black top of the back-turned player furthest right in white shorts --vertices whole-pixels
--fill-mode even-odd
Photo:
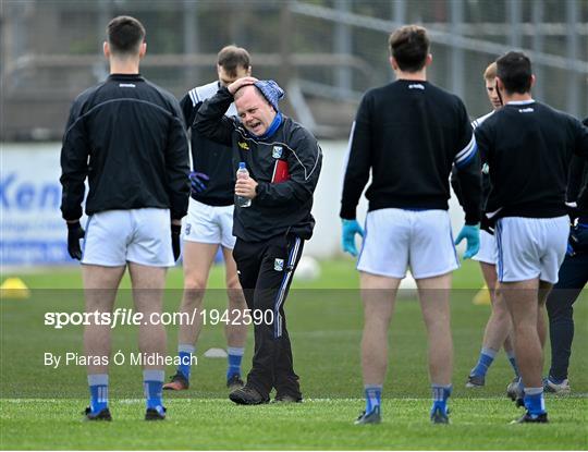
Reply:
[[[577,119],[540,102],[506,103],[475,133],[490,168],[489,218],[567,212],[572,156],[588,157],[588,129]]]

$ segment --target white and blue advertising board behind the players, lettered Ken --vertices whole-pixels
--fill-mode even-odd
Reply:
[[[321,142],[322,171],[315,192],[316,228],[305,254],[332,257],[341,253],[339,209],[347,144]],[[66,249],[66,227],[61,219],[60,143],[0,144],[0,257],[3,266],[74,264]],[[357,209],[363,223],[364,197]],[[464,213],[455,196],[450,200],[454,233]],[[82,220],[82,224],[85,219]]]

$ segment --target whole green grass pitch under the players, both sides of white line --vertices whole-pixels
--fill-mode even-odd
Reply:
[[[33,289],[29,300],[2,300],[0,368],[1,449],[487,449],[560,450],[588,448],[588,304],[576,303],[576,337],[569,369],[573,393],[547,396],[551,424],[509,425],[522,412],[504,398],[512,370],[497,356],[480,390],[466,390],[476,362],[488,306],[471,304],[481,286],[479,269],[466,262],[455,272],[452,326],[455,349],[454,396],[450,426],[428,420],[429,387],[420,309],[399,301],[390,331],[390,365],[384,387],[383,423],[354,426],[363,410],[359,368],[362,306],[357,273],[350,260],[326,261],[314,282],[296,282],[286,304],[295,368],[305,402],[296,405],[236,406],[226,399],[224,359],[203,356],[223,347],[221,325],[206,326],[198,342],[192,388],[166,393],[163,423],[145,423],[140,368],[112,366],[112,423],[84,423],[85,369],[44,366],[42,352],[81,351],[82,328],[54,330],[42,323],[46,311],[83,310],[78,269],[21,274]],[[125,279],[123,286],[128,288]],[[166,309],[180,302],[182,273],[170,272]],[[215,268],[205,306],[225,307],[222,269]],[[336,290],[333,288],[338,288]],[[51,290],[48,290],[51,289]],[[583,298],[586,296],[583,295]],[[132,306],[122,292],[117,306]],[[169,328],[168,349],[176,330]],[[136,328],[113,330],[113,350],[135,351]],[[253,334],[244,357],[248,370]],[[549,346],[548,346],[549,352]],[[172,353],[173,354],[173,353]],[[546,356],[546,368],[549,353]],[[173,368],[168,369],[171,375]]]

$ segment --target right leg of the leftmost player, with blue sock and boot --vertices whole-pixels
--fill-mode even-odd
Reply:
[[[161,398],[164,368],[162,364],[167,353],[166,328],[160,322],[163,310],[163,290],[166,285],[166,267],[149,267],[128,262],[128,273],[133,284],[133,301],[137,313],[143,314],[143,322],[138,328],[139,352],[144,359],[143,383],[145,389],[147,420],[163,419],[166,408]]]

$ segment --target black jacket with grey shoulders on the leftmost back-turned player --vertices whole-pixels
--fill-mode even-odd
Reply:
[[[187,212],[189,156],[177,100],[139,74],[112,74],[73,102],[61,149],[65,220],[103,210]]]

